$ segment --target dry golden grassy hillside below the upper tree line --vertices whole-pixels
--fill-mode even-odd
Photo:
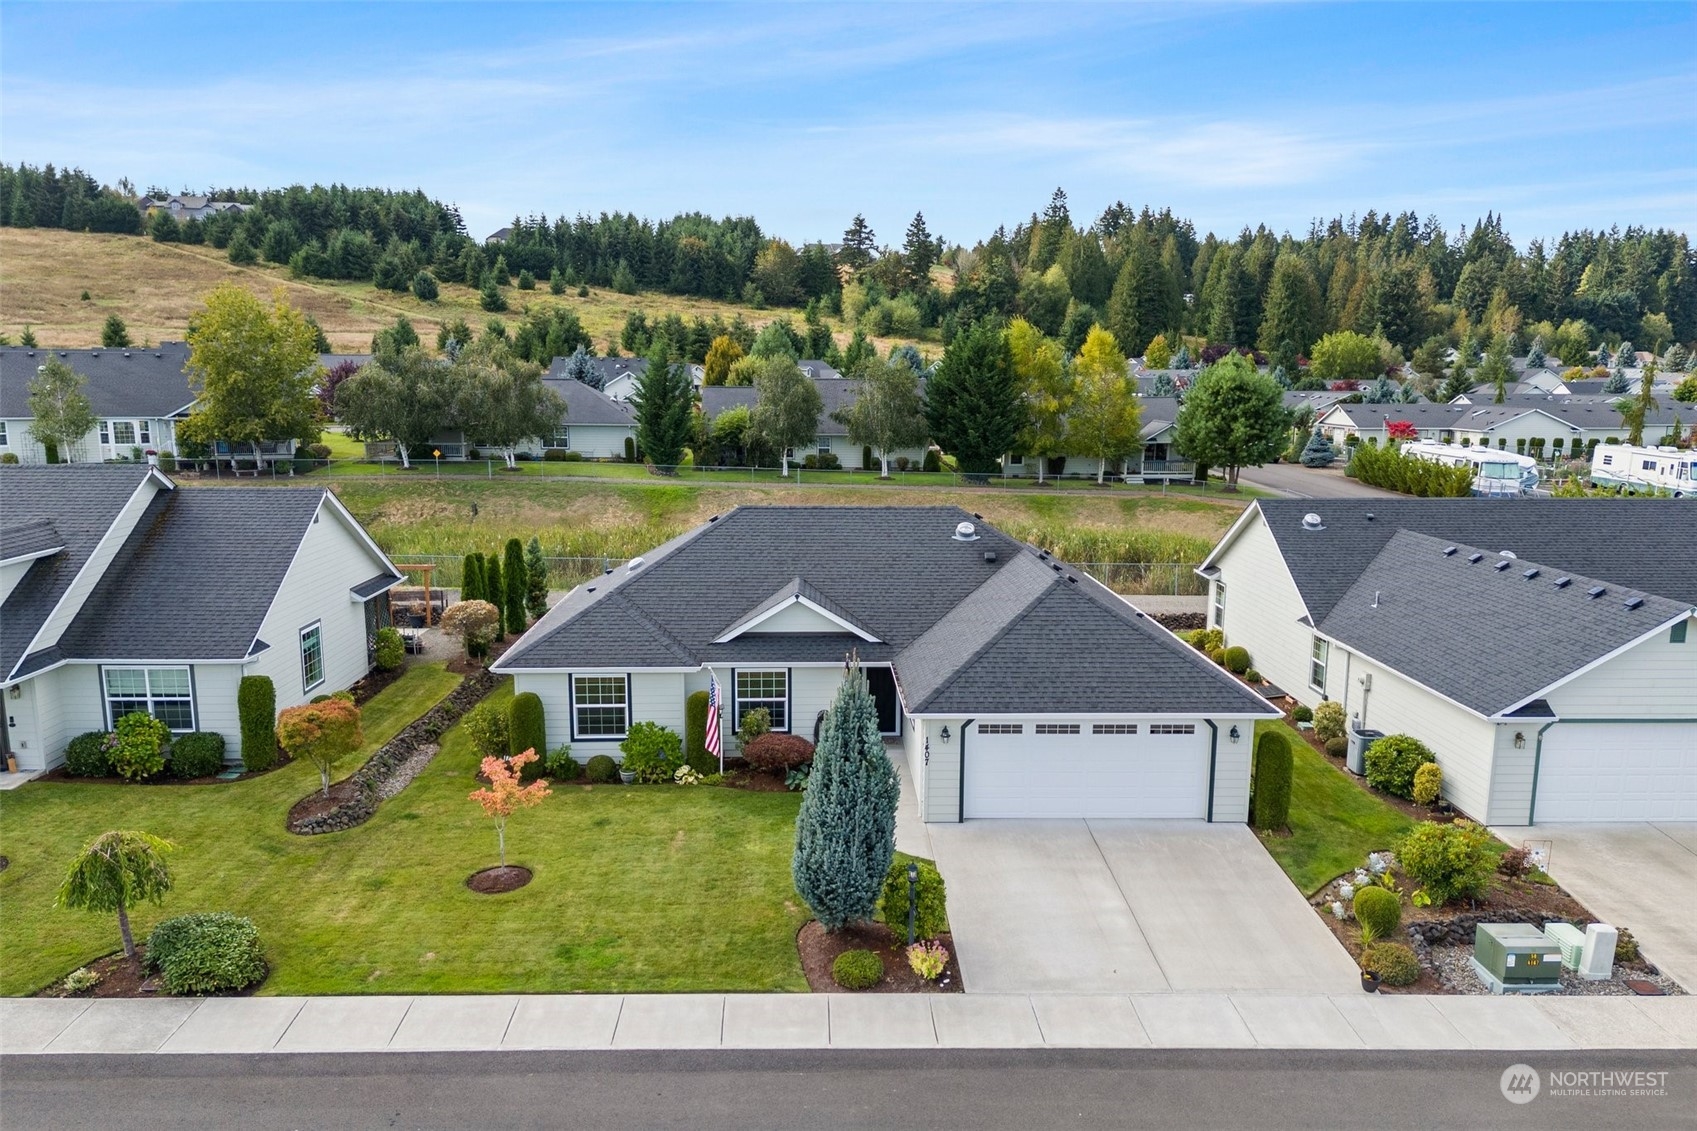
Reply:
[[[475,328],[492,318],[477,304],[477,292],[458,284],[443,284],[441,299],[421,302],[411,294],[378,290],[370,284],[290,279],[287,268],[266,263],[236,267],[209,246],[154,243],[144,236],[0,228],[0,333],[12,341],[29,324],[46,346],[100,345],[100,324],[112,312],[129,324],[136,341],[182,338],[200,297],[224,282],[261,295],[282,287],[288,302],[319,321],[331,348],[348,353],[365,352],[372,333],[394,323],[397,314],[411,318],[426,341],[434,341],[443,321],[463,318]],[[85,290],[88,301],[81,297]],[[511,311],[501,318],[509,326],[526,304],[568,306],[601,352],[618,338],[631,311],[643,311],[650,321],[674,311],[686,319],[720,314],[728,321],[742,314],[755,326],[782,314],[801,321],[796,311],[750,311],[730,302],[653,292],[630,295],[591,287],[584,299],[575,292],[557,297],[548,294],[546,284],[536,290],[514,285],[507,290],[507,302]],[[847,326],[837,319],[833,329],[847,345]],[[894,341],[881,338],[879,348],[888,350]],[[930,353],[942,350],[938,341],[918,345]]]

